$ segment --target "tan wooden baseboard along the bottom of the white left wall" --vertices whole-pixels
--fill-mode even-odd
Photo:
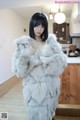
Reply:
[[[0,97],[2,97],[4,94],[6,94],[14,85],[20,82],[20,79],[16,76],[11,77],[4,83],[0,85]]]

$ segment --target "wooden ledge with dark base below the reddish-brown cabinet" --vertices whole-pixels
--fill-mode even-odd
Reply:
[[[56,110],[56,115],[80,117],[80,105],[59,104]]]

